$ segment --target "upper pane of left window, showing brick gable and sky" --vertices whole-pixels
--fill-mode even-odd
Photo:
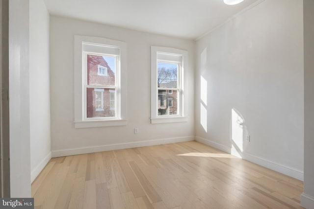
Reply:
[[[87,85],[115,86],[116,58],[87,54]]]

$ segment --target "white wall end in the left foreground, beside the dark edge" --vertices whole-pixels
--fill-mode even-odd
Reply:
[[[11,197],[30,197],[29,1],[9,2]]]

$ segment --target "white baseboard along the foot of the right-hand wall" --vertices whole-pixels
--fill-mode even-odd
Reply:
[[[195,139],[201,143],[207,144],[207,145],[212,146],[216,149],[222,150],[222,151],[227,152],[227,153],[231,153],[231,147],[228,147],[226,145],[219,144],[217,142],[214,142],[214,141],[211,141],[209,139],[202,138],[202,137],[195,137]],[[252,154],[249,154],[246,152],[241,153],[241,156],[243,159],[245,159],[247,161],[262,165],[266,168],[275,170],[275,171],[283,173],[287,176],[291,176],[295,179],[303,181],[303,171],[289,167],[287,165],[275,163],[275,162],[263,159],[261,157],[258,157],[258,156],[255,156],[255,155],[252,155]]]

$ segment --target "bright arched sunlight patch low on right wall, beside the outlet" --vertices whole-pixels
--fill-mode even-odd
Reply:
[[[243,117],[236,111],[232,109],[231,111],[231,139],[232,147],[231,154],[241,157],[243,152],[243,140],[244,140],[244,131],[243,131]]]

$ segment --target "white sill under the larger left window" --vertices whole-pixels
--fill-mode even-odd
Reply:
[[[75,121],[75,128],[95,128],[95,127],[110,127],[110,126],[126,126],[127,120],[90,120],[90,121]]]

